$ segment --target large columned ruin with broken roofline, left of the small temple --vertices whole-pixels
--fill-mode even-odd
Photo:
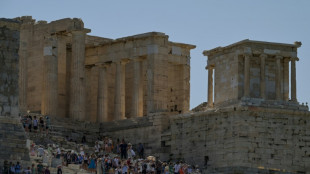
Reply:
[[[19,20],[22,112],[104,122],[189,110],[195,46],[158,32],[90,36],[80,19]]]

